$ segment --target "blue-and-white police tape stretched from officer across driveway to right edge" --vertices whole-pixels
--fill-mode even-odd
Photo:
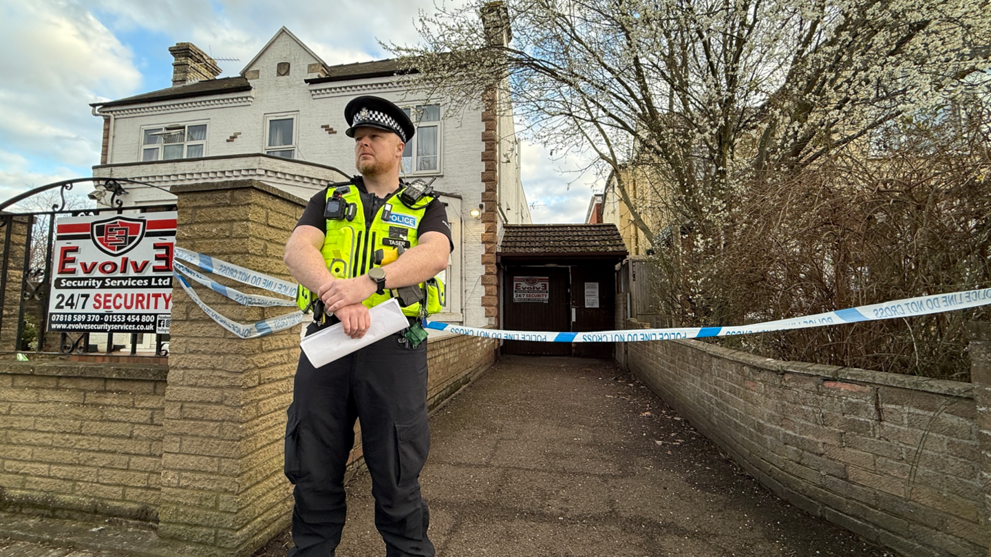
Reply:
[[[426,321],[424,328],[436,331],[447,331],[461,335],[500,339],[524,340],[535,342],[639,342],[651,340],[693,339],[706,337],[724,337],[749,333],[766,333],[789,329],[804,329],[807,327],[826,327],[842,323],[858,323],[860,321],[877,321],[898,317],[912,317],[940,313],[955,309],[966,309],[991,304],[991,288],[963,290],[945,294],[918,296],[898,299],[883,303],[872,303],[826,311],[805,317],[791,317],[776,321],[765,321],[752,325],[738,327],[678,327],[669,329],[634,329],[599,331],[590,333],[556,333],[544,331],[504,331],[464,327],[437,321]]]

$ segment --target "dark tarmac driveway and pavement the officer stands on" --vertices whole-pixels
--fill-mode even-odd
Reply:
[[[608,361],[504,357],[430,421],[421,482],[439,557],[892,555],[773,497]],[[381,557],[368,474],[348,491],[337,555]],[[110,549],[106,537],[61,533],[59,548],[5,541],[4,529],[0,557],[158,554],[138,550],[154,546],[138,529],[113,532],[114,549],[132,548],[120,552],[84,549]],[[284,532],[256,557],[290,545]]]

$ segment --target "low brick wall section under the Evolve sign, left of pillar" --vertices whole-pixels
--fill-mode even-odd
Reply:
[[[0,367],[0,506],[156,520],[165,366]]]

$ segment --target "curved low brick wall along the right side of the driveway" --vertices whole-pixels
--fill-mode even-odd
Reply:
[[[907,556],[989,555],[991,437],[979,431],[991,410],[975,386],[699,341],[625,343],[625,357],[779,497]]]

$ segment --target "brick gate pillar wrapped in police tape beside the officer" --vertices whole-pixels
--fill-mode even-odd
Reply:
[[[178,196],[176,246],[291,280],[282,253],[302,199],[256,180],[190,184],[172,192]],[[246,293],[268,293],[213,278]],[[242,323],[294,310],[246,307],[194,288],[206,304]],[[170,332],[159,536],[204,554],[249,555],[289,520],[282,439],[299,330],[239,339],[176,284]]]

